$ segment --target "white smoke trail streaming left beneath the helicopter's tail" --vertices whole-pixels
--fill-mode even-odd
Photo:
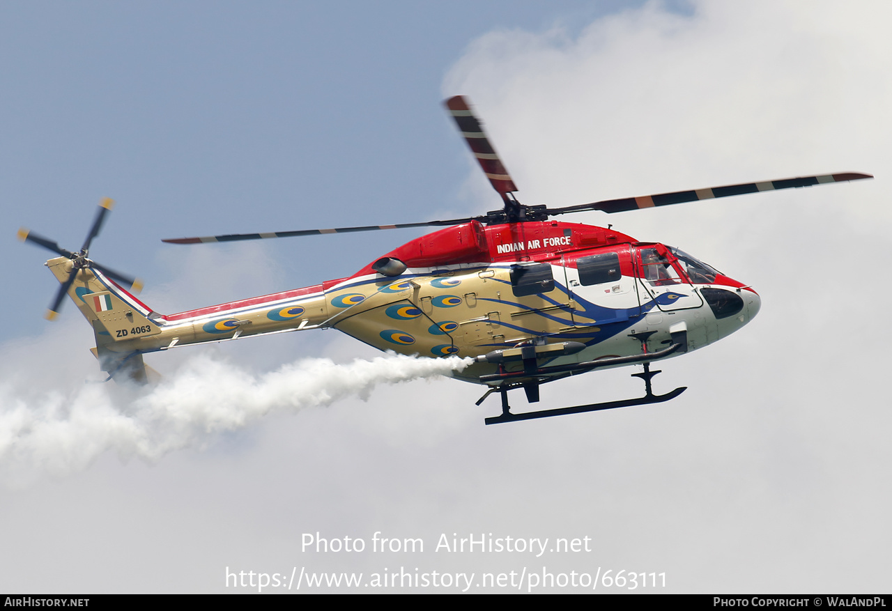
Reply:
[[[201,447],[213,435],[249,425],[277,410],[368,398],[377,384],[447,376],[471,359],[425,359],[389,353],[335,364],[304,359],[255,376],[199,356],[160,384],[133,388],[85,384],[76,390],[17,391],[0,381],[0,471],[6,475],[82,470],[108,450],[121,458],[157,460]]]

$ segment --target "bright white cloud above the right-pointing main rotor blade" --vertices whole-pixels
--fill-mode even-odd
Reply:
[[[889,92],[870,75],[892,68],[888,20],[811,7],[697,3],[689,16],[650,3],[578,37],[497,30],[443,92],[471,96],[529,202],[877,168]]]

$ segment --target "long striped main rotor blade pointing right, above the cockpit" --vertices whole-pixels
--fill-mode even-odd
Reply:
[[[844,180],[861,180],[862,178],[873,178],[873,176],[871,174],[847,172],[842,174],[824,174],[822,176],[783,178],[781,180],[768,180],[761,183],[714,186],[708,189],[695,189],[693,191],[675,191],[674,193],[645,195],[643,197],[627,197],[622,200],[582,203],[575,206],[566,206],[564,208],[548,208],[546,211],[549,215],[593,210],[610,213],[623,212],[639,210],[642,208],[653,208],[654,206],[667,206],[673,203],[697,202],[698,200],[709,200],[716,197],[730,197],[731,195],[758,193],[761,191],[777,191],[779,189],[792,189],[799,186],[825,185],[827,183],[838,183]]]

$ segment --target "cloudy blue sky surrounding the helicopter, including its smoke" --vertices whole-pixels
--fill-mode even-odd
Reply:
[[[620,572],[637,592],[888,591],[892,294],[871,278],[892,234],[890,25],[887,4],[823,0],[0,5],[0,590],[285,593],[273,577],[303,570],[360,591]],[[149,355],[167,385],[147,399],[97,383],[70,303],[42,318],[57,285],[16,230],[74,250],[106,196],[91,258],[162,313],[348,276],[422,232],[161,238],[497,208],[442,109],[458,94],[524,203],[876,178],[572,219],[762,297],[661,363],[657,392],[689,386],[661,405],[484,426],[480,387],[336,331]],[[638,396],[636,370],[549,384],[541,406]],[[482,537],[514,547],[438,549]],[[365,548],[316,547],[346,538]],[[370,585],[394,573],[439,581]]]

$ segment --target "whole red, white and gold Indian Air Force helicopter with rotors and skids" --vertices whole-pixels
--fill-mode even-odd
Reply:
[[[650,363],[698,350],[734,333],[760,299],[735,280],[673,246],[639,242],[612,226],[554,220],[571,212],[634,211],[653,206],[872,178],[840,173],[629,197],[563,208],[527,205],[467,99],[445,103],[502,207],[467,219],[337,227],[164,240],[203,244],[404,227],[443,227],[395,248],[351,277],[319,285],[160,314],[122,288],[136,280],[87,258],[111,200],[103,200],[78,252],[21,229],[19,236],[60,255],[46,261],[64,296],[93,326],[91,349],[109,379],[146,380],[143,354],[260,334],[335,328],[382,351],[458,355],[473,364],[453,376],[501,396],[486,424],[614,409],[671,400],[686,387],[654,394]],[[640,364],[643,397],[560,409],[512,412],[508,391],[536,403],[540,386],[605,367]]]

